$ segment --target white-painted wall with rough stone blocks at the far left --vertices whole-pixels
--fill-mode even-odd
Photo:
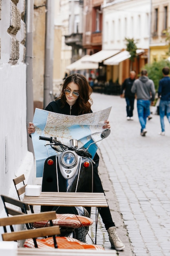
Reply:
[[[12,179],[32,180],[27,150],[25,0],[0,0],[0,194],[17,198]],[[0,200],[0,215],[4,214]]]

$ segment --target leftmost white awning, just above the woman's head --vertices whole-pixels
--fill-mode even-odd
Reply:
[[[99,67],[98,63],[92,63],[92,62],[88,62],[86,61],[87,58],[90,57],[90,55],[85,55],[82,58],[80,58],[78,61],[75,61],[73,63],[71,63],[70,65],[68,65],[66,67],[67,70],[93,70],[93,69],[97,69]],[[86,61],[86,62],[82,62],[82,61]]]

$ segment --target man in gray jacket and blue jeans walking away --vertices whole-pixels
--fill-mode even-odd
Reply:
[[[154,82],[148,78],[147,70],[141,71],[141,76],[132,85],[131,92],[137,95],[137,112],[141,124],[141,136],[146,135],[146,119],[150,114],[150,101],[155,99]]]

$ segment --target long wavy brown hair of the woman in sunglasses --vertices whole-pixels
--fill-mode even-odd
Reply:
[[[88,84],[86,77],[82,74],[75,73],[68,76],[63,83],[60,96],[57,99],[61,99],[62,107],[64,107],[66,103],[64,89],[66,89],[67,85],[71,82],[77,84],[79,87],[79,97],[75,103],[77,105],[79,115],[90,113],[91,105],[93,104],[93,100],[91,99],[90,95],[92,94],[93,90]]]

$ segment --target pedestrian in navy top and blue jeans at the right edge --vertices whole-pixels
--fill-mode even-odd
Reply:
[[[169,67],[163,67],[163,78],[159,81],[158,96],[160,98],[159,103],[159,115],[161,121],[161,132],[159,135],[165,135],[164,116],[166,115],[170,123],[170,69]]]

